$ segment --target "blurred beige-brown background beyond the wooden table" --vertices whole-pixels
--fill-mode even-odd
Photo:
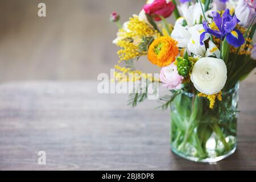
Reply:
[[[46,3],[47,17],[38,16],[40,2]],[[138,14],[144,3],[146,0],[1,0],[0,82],[96,80],[98,73],[109,73],[118,61],[118,48],[112,44],[118,29],[109,22],[109,14],[117,11],[124,22]],[[146,57],[137,68],[159,72]]]

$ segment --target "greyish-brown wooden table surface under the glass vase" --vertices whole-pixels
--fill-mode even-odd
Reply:
[[[156,101],[131,109],[126,94],[98,94],[93,81],[2,84],[0,169],[255,170],[255,90],[241,84],[237,151],[210,165],[171,152],[169,113],[154,109]]]

